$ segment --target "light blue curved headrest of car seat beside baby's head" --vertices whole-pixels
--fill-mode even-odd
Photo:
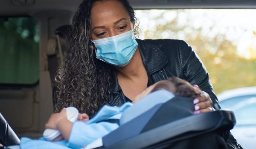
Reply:
[[[148,96],[145,96],[123,112],[120,119],[120,125],[131,121],[157,104],[169,101],[173,97],[175,96],[167,90],[158,90],[149,94]]]

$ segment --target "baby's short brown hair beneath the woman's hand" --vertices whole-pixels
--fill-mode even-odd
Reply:
[[[201,92],[195,90],[195,88],[183,79],[175,76],[170,77],[167,80],[160,81],[151,90],[151,93],[157,90],[167,90],[173,93],[175,96],[196,98],[201,96]]]

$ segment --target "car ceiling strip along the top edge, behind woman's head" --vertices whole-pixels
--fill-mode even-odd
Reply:
[[[76,11],[82,0],[0,0],[0,15],[30,15],[44,10]],[[256,0],[129,0],[135,9],[256,8]]]

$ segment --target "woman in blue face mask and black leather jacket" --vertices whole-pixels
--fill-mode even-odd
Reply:
[[[201,60],[184,41],[140,40],[127,0],[84,0],[72,22],[64,67],[56,81],[55,112],[74,106],[92,117],[104,104],[120,106],[157,81],[177,76],[203,91],[195,113],[218,105]],[[218,105],[219,107],[219,105]]]

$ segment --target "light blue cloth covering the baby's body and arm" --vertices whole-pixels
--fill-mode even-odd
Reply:
[[[120,119],[122,112],[132,103],[125,103],[121,107],[110,107],[105,105],[95,115],[94,118],[87,122],[76,121],[73,124],[69,141],[50,142],[44,138],[32,140],[29,138],[21,138],[21,149],[81,149],[89,143],[102,138],[109,132],[118,128],[119,125],[109,122],[100,122],[107,119]]]

